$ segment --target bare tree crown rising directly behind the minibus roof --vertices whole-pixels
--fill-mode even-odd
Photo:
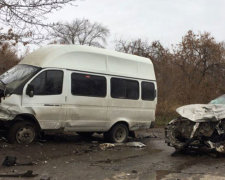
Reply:
[[[87,19],[76,19],[71,23],[57,23],[50,35],[55,43],[81,44],[104,47],[109,29],[99,23],[91,23]]]

